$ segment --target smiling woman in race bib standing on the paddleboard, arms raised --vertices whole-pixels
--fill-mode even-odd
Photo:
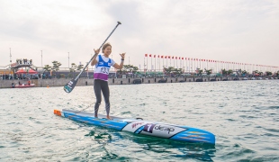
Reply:
[[[125,53],[121,53],[121,64],[117,64],[110,57],[112,53],[112,45],[110,43],[105,43],[102,48],[103,55],[97,55],[100,53],[100,49],[94,49],[95,57],[91,62],[91,66],[95,65],[94,68],[94,94],[96,96],[96,103],[94,104],[94,117],[98,117],[99,106],[102,101],[101,92],[103,93],[106,118],[110,118],[110,89],[108,85],[108,77],[110,74],[110,68],[114,67],[121,69],[124,64]]]

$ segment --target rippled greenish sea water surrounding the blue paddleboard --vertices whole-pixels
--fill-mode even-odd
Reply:
[[[0,89],[0,161],[279,161],[279,80],[110,85],[111,115],[211,131],[215,145],[71,121],[93,86]],[[99,113],[105,114],[104,103]]]

